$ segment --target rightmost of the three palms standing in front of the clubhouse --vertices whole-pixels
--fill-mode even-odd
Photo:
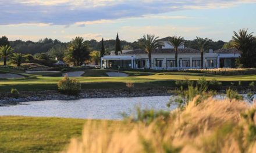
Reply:
[[[209,43],[208,38],[197,37],[197,39],[195,39],[195,46],[201,52],[201,68],[204,68],[204,50],[209,45],[208,43]]]

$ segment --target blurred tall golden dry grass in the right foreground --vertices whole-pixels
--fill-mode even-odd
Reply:
[[[64,152],[256,152],[256,107],[244,101],[191,101],[147,125],[87,123]]]

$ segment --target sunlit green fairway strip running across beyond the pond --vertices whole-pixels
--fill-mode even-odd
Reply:
[[[190,79],[197,81],[205,77],[208,81],[217,79],[224,82],[237,81],[256,81],[256,75],[234,75],[220,76],[198,73],[170,72],[158,73],[155,75],[136,76],[136,77],[77,77],[76,79],[82,83],[83,89],[109,89],[109,88],[126,88],[126,82],[133,82],[136,88],[160,88],[175,86],[176,80]],[[0,79],[0,91],[10,91],[11,88],[18,90],[56,90],[59,80],[62,77],[27,77]],[[229,83],[230,84],[230,83]]]

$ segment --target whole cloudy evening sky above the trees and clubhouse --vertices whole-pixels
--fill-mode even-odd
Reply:
[[[240,28],[256,32],[255,19],[256,0],[0,0],[0,36],[11,41],[99,41],[117,32],[129,42],[145,34],[229,41]]]

